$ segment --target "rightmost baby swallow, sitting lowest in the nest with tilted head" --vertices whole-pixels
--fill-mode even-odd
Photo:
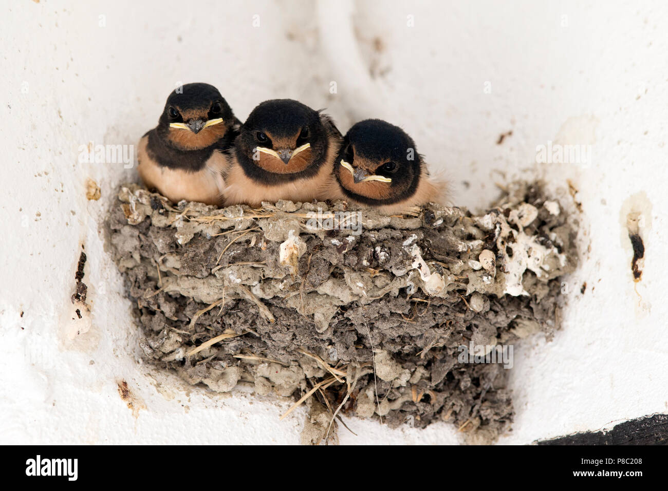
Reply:
[[[443,187],[430,180],[415,142],[401,128],[365,120],[345,135],[333,176],[320,197],[393,214],[440,201]]]

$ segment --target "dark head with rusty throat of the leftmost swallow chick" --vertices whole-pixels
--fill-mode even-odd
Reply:
[[[238,124],[218,89],[185,84],[167,98],[158,134],[179,150],[200,150],[226,136]]]

